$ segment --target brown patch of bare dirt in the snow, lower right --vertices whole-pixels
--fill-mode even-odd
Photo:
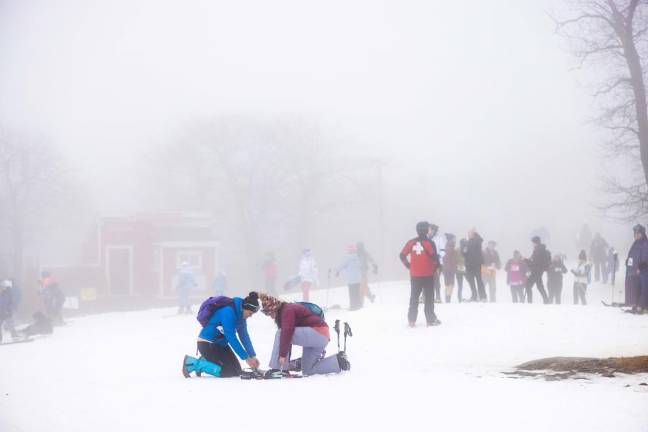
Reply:
[[[537,372],[531,372],[537,371]],[[551,357],[533,360],[516,367],[515,372],[505,372],[511,378],[540,377],[547,381],[563,379],[588,379],[578,374],[595,374],[614,378],[615,373],[648,373],[648,356],[611,357]]]

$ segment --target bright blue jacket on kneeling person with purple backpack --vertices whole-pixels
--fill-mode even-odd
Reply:
[[[247,323],[243,318],[243,299],[234,297],[233,300],[232,306],[224,306],[214,312],[198,337],[220,346],[231,346],[241,360],[256,357],[250,335],[247,332]]]

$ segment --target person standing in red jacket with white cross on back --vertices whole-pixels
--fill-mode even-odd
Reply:
[[[407,319],[410,327],[416,326],[419,298],[424,295],[424,312],[428,326],[441,324],[434,313],[434,275],[439,266],[436,246],[429,239],[430,224],[416,224],[417,236],[405,243],[400,259],[410,272],[410,302]],[[408,261],[409,257],[409,261]]]

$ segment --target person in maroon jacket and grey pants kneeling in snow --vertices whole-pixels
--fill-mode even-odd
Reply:
[[[300,370],[304,375],[339,373],[351,369],[344,352],[324,357],[331,340],[328,324],[304,304],[286,303],[261,294],[262,312],[274,319],[278,330],[270,358],[271,369]],[[293,345],[303,348],[301,360],[290,361]]]

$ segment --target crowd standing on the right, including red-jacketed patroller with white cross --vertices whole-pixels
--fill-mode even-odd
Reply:
[[[489,241],[483,248],[483,239],[476,229],[468,232],[467,239],[461,239],[457,245],[454,234],[440,235],[439,227],[428,222],[416,225],[417,236],[405,244],[400,253],[400,259],[409,269],[411,294],[408,311],[410,326],[416,325],[418,305],[423,294],[424,311],[428,325],[438,325],[434,312],[434,303],[441,302],[440,287],[443,277],[445,285],[445,302],[452,299],[455,284],[458,286],[457,300],[459,302],[495,302],[497,301],[497,271],[502,268],[496,243]],[[635,313],[648,310],[648,252],[645,249],[645,228],[642,225],[634,227],[635,244],[626,261],[626,305],[631,306]],[[528,258],[520,251],[504,265],[507,284],[510,287],[511,299],[514,303],[532,303],[533,292],[536,288],[545,304],[560,304],[562,302],[563,279],[569,271],[564,263],[564,257],[552,256],[539,236],[531,239],[533,251]],[[613,254],[613,266],[601,261],[601,250]],[[600,277],[604,282],[615,277],[617,253],[614,248],[607,246],[602,237],[597,234],[592,240],[592,252],[598,261],[588,259],[584,249],[578,254],[578,262],[570,271],[574,278],[573,303],[587,304],[587,288],[592,279],[592,268],[597,268],[599,262]],[[644,256],[644,254],[646,254]],[[640,263],[646,263],[645,269]],[[544,274],[547,273],[547,290],[544,285]],[[595,271],[596,273],[596,271]],[[632,276],[634,274],[634,276]],[[644,275],[645,274],[645,275]],[[595,275],[596,277],[596,275]],[[471,296],[463,298],[463,281],[468,282]],[[645,280],[645,282],[644,282]],[[645,287],[644,287],[645,286]],[[488,287],[488,294],[486,292]],[[629,287],[629,288],[628,288]],[[645,294],[644,294],[645,292]]]

